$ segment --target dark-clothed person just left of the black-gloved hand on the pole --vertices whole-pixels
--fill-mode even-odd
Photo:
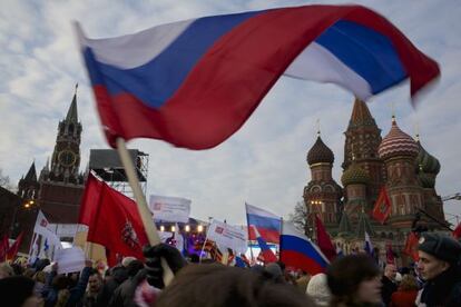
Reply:
[[[134,301],[135,291],[138,285],[146,278],[144,264],[137,259],[127,265],[128,278],[117,287],[109,301],[110,307],[136,307]]]

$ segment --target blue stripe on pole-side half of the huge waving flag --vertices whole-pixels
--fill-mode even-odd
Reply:
[[[220,37],[261,12],[199,18],[160,55],[137,68],[124,70],[98,62],[99,71],[107,76],[105,86],[110,95],[130,92],[149,107],[159,108],[176,92],[197,61]],[[87,52],[85,58],[87,59]],[[90,69],[90,76],[94,70]],[[96,77],[91,76],[92,86],[101,82]],[[139,80],[143,80],[143,86],[139,86]]]

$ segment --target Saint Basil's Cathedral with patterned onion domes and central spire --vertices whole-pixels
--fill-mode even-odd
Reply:
[[[443,202],[435,191],[440,162],[418,136],[414,140],[402,131],[392,117],[391,130],[381,138],[381,129],[361,100],[354,102],[344,135],[343,187],[332,177],[334,155],[320,136],[307,152],[311,181],[303,194],[307,235],[315,232],[316,215],[345,254],[363,249],[366,232],[381,255],[391,245],[400,256],[419,211],[426,212],[420,225],[443,230]],[[381,224],[371,214],[383,187],[391,212]]]

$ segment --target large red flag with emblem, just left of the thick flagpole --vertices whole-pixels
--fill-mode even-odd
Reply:
[[[92,175],[88,176],[79,220],[88,222],[87,240],[108,249],[109,266],[117,264],[117,255],[144,259],[141,249],[148,239],[135,201]]]

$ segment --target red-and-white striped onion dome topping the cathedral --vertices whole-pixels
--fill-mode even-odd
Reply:
[[[377,154],[381,159],[389,159],[396,156],[416,157],[420,152],[420,147],[412,137],[400,130],[395,118],[392,117],[392,127],[388,136],[383,138],[377,148]]]

